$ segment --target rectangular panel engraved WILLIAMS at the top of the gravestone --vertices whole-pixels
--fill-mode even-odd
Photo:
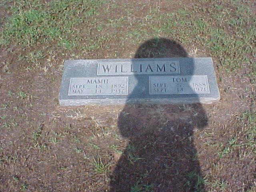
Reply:
[[[179,74],[180,66],[178,61],[172,62],[118,62],[116,64],[99,63],[98,74],[114,75],[114,74]]]

